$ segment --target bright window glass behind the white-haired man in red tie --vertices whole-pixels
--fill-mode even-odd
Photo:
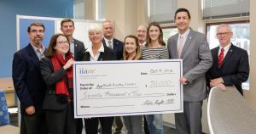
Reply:
[[[209,42],[210,48],[218,47],[218,39],[216,37],[216,28],[219,24],[207,25],[207,40]],[[237,47],[241,47],[247,50],[250,58],[250,24],[248,22],[241,23],[230,23],[229,24],[233,36],[231,42]],[[249,81],[242,84],[243,89],[249,89]]]

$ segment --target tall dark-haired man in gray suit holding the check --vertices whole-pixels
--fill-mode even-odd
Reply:
[[[183,113],[175,114],[180,134],[201,134],[201,106],[207,97],[205,73],[212,66],[212,54],[205,35],[189,28],[189,10],[178,8],[174,21],[178,33],[168,39],[171,59],[183,59]]]

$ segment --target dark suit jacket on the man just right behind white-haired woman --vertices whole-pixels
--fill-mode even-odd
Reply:
[[[104,46],[107,46],[104,38],[102,38],[102,43]],[[116,54],[118,60],[123,58],[123,44],[123,42],[113,38],[113,52]]]

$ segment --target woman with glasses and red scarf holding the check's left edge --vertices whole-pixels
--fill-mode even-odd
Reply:
[[[51,37],[41,74],[47,85],[43,109],[50,134],[75,134],[73,115],[73,55],[63,34]]]

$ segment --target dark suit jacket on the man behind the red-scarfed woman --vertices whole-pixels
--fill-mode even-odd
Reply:
[[[85,51],[84,42],[80,42],[79,40],[73,39],[74,41],[74,59],[75,61],[79,61],[82,59],[82,55]]]

